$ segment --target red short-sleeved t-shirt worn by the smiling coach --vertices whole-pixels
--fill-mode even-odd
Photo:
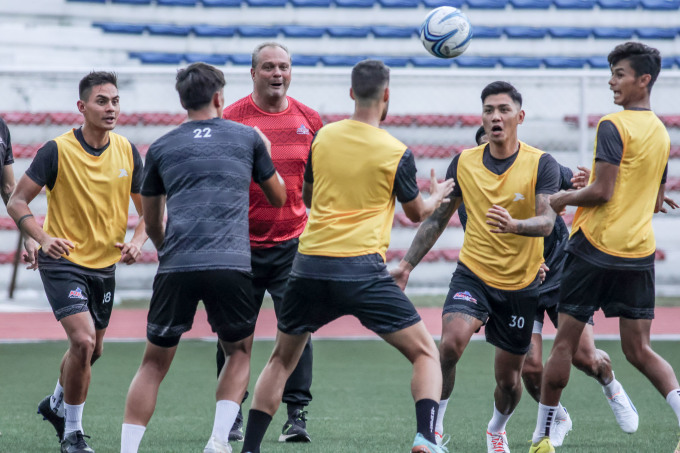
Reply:
[[[303,175],[314,134],[323,126],[321,117],[291,97],[286,110],[267,113],[255,105],[251,95],[226,107],[222,117],[260,128],[272,143],[274,166],[286,183],[288,199],[282,208],[276,208],[260,186],[250,182],[250,246],[268,248],[300,236],[307,223]]]

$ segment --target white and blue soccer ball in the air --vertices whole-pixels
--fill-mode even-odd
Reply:
[[[432,10],[420,26],[420,41],[435,57],[454,58],[465,52],[472,39],[467,16],[453,6]]]

